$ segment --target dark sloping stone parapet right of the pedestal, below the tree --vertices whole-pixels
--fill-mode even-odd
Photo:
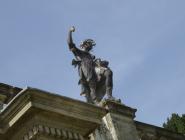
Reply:
[[[185,140],[185,136],[167,129],[135,121],[140,140]]]

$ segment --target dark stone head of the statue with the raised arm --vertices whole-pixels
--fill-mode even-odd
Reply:
[[[95,45],[96,43],[92,39],[86,39],[80,43],[80,47],[82,48],[82,50],[87,51],[87,52],[92,50],[93,46]]]

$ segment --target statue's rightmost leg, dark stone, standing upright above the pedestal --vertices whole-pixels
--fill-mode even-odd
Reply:
[[[112,97],[112,89],[113,89],[113,73],[110,69],[107,69],[104,73],[105,76],[105,86],[106,86],[106,94],[108,99],[113,99]]]

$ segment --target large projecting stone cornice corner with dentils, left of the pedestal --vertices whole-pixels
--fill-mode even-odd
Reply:
[[[0,114],[0,138],[86,139],[106,113],[105,109],[91,104],[26,88]]]

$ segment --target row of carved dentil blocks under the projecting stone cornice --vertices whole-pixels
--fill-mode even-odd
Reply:
[[[33,126],[23,136],[23,140],[33,140],[40,136],[55,137],[60,139],[63,138],[65,140],[84,140],[83,136],[78,133],[59,128],[53,128],[42,124]]]

